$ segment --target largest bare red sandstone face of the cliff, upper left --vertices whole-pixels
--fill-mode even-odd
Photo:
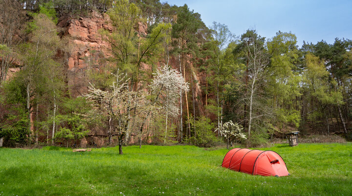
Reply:
[[[71,56],[67,59],[67,80],[72,97],[82,96],[88,90],[87,70],[96,62],[109,56],[109,44],[99,35],[99,29],[112,30],[109,16],[95,11],[87,17],[63,16],[58,26],[64,28],[65,35],[72,39]]]

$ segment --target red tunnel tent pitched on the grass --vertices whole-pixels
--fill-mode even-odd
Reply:
[[[288,176],[286,164],[274,151],[231,149],[222,160],[222,167],[251,175]]]

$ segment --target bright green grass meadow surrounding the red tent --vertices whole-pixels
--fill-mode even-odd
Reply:
[[[0,148],[2,195],[352,195],[352,144],[272,148],[291,176],[251,176],[220,167],[226,149],[137,146]],[[120,194],[122,193],[122,194]],[[164,194],[163,194],[164,193]]]

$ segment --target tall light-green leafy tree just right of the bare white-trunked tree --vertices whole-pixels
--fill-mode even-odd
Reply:
[[[300,54],[296,43],[294,34],[280,31],[267,42],[271,62],[265,91],[270,97],[271,108],[275,113],[275,117],[268,123],[283,129],[285,124],[298,128],[301,120],[301,105],[297,100],[301,97],[302,88],[299,83],[302,78],[297,72]]]

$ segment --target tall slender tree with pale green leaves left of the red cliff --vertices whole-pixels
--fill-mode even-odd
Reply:
[[[58,36],[56,25],[45,14],[34,14],[33,17],[34,20],[29,23],[27,29],[30,32],[29,41],[20,47],[21,56],[19,57],[21,58],[19,59],[23,67],[17,73],[26,89],[26,109],[28,122],[30,122],[28,128],[32,130],[30,137],[34,134],[33,129],[30,128],[33,106],[39,102],[42,95],[51,93],[47,92],[47,88],[52,86],[48,85],[48,82],[52,83],[52,80],[48,79],[47,75],[50,75],[52,70],[60,70],[58,69],[60,64],[56,62],[55,55],[59,49],[63,50],[65,48],[63,45],[66,44]],[[62,76],[62,74],[56,76]],[[52,76],[52,78],[56,77]]]

